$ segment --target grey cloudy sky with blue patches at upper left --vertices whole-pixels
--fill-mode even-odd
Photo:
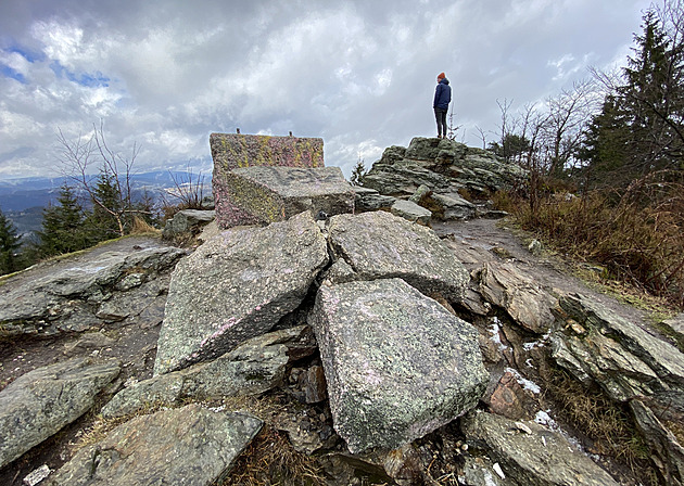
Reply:
[[[211,132],[321,137],[349,177],[434,137],[435,77],[458,138],[624,64],[645,0],[0,0],[0,179],[58,175],[58,130],[103,123],[138,171],[211,172]],[[492,133],[490,133],[490,131]]]

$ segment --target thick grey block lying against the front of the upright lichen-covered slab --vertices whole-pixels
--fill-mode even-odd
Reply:
[[[340,167],[244,167],[226,174],[232,204],[262,223],[304,210],[314,216],[354,212],[354,189]]]

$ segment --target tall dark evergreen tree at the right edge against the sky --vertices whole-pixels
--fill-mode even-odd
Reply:
[[[626,188],[654,170],[684,169],[684,43],[656,10],[643,20],[624,82],[584,132],[579,157],[594,183]]]

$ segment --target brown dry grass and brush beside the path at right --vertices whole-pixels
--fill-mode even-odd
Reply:
[[[649,175],[620,195],[549,194],[534,209],[510,194],[498,193],[495,201],[556,251],[604,267],[611,280],[682,308],[684,183],[663,181],[666,176]]]

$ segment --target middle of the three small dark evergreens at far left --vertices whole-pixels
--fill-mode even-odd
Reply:
[[[84,228],[84,210],[68,186],[60,189],[58,204],[43,209],[42,229],[38,231],[41,256],[53,256],[87,248],[91,242]]]

